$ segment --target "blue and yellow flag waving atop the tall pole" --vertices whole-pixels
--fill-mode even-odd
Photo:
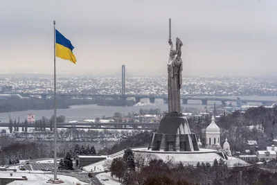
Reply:
[[[55,31],[56,35],[56,57],[65,60],[70,60],[76,64],[76,58],[73,54],[74,46],[72,46],[69,39],[66,39],[58,30]]]

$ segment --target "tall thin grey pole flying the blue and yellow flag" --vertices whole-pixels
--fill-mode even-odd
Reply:
[[[57,180],[56,21],[54,24],[54,180]]]

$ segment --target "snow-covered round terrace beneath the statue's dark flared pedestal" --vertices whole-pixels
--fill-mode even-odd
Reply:
[[[217,150],[211,150],[206,148],[199,148],[198,151],[153,151],[148,148],[132,148],[134,155],[145,155],[154,159],[163,159],[163,161],[167,161],[168,159],[172,159],[172,161],[179,162],[181,161],[184,165],[193,165],[196,166],[199,162],[209,163],[213,165],[213,161],[215,159],[220,160],[223,159],[229,168],[233,168],[235,166],[251,166],[246,161],[235,157],[227,157],[224,152],[220,152]]]

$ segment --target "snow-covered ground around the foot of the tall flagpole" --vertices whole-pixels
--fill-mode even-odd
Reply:
[[[9,183],[8,185],[46,185],[47,180],[53,178],[53,175],[43,173],[12,173],[12,177],[26,176],[28,180],[19,180]],[[0,177],[10,177],[10,172],[0,172]],[[84,185],[87,183],[81,182],[75,177],[69,177],[65,175],[57,175],[58,179],[64,181],[64,185],[77,184]],[[48,185],[48,184],[47,184]]]

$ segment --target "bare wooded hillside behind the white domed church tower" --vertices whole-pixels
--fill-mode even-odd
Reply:
[[[245,113],[233,112],[225,114],[216,120],[220,127],[221,141],[225,139],[231,146],[232,151],[243,152],[247,148],[247,140],[256,140],[259,150],[271,146],[272,140],[277,137],[277,108],[255,107]],[[189,118],[190,130],[195,132],[197,138],[206,144],[205,129],[211,123],[211,118]]]

